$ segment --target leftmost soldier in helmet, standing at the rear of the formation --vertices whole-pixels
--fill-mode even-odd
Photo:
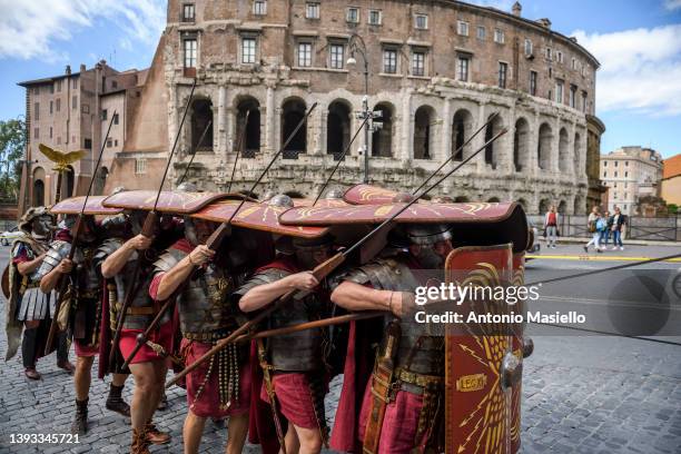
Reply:
[[[40,379],[36,362],[45,352],[45,340],[55,314],[55,298],[40,290],[38,268],[49,249],[53,218],[45,207],[29,208],[19,221],[24,234],[12,244],[9,265],[10,297],[7,306],[8,351],[6,361],[14,356],[21,340],[24,375]],[[26,329],[23,329],[26,328]],[[72,373],[66,335],[58,337],[57,366]]]

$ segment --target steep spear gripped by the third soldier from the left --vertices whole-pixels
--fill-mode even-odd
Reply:
[[[156,193],[156,200],[154,201],[154,208],[151,209],[151,211],[147,213],[147,217],[145,218],[145,224],[142,225],[142,229],[140,234],[145,238],[149,238],[149,239],[154,238],[158,229],[159,216],[158,216],[156,208],[158,206],[160,194],[164,190],[166,178],[168,177],[168,170],[170,169],[170,162],[172,162],[172,156],[175,155],[175,150],[177,149],[177,144],[179,142],[179,137],[182,131],[182,127],[185,126],[185,120],[187,119],[187,112],[189,111],[189,105],[191,103],[191,100],[194,98],[195,89],[196,89],[196,79],[194,79],[194,82],[191,83],[191,91],[189,92],[189,98],[187,98],[187,102],[185,103],[185,110],[182,111],[182,118],[180,120],[179,127],[177,128],[177,134],[175,135],[175,141],[172,142],[172,148],[170,149],[170,156],[168,156],[168,162],[166,162],[166,169],[164,171],[164,176],[161,177],[160,185],[158,185],[158,191]],[[196,147],[193,150],[194,155],[196,155],[197,148],[200,147],[200,145],[204,142],[204,138],[206,137],[208,129],[210,129],[210,125],[211,122],[208,122],[208,125],[204,129],[204,132],[201,134]],[[194,155],[191,156],[191,159],[194,159]],[[187,169],[189,169],[189,166],[187,166]],[[187,174],[185,172],[182,175],[182,179],[185,175]],[[132,298],[135,297],[135,294],[139,292],[139,288],[137,288],[137,282],[139,280],[139,277],[140,277],[139,275],[140,275],[140,270],[142,267],[142,261],[146,261],[146,257],[144,254],[139,254],[137,263],[135,264],[135,272],[132,273],[132,282],[128,285],[128,289],[124,297],[122,306],[116,318],[116,332],[114,333],[114,339],[111,342],[111,349],[109,351],[109,371],[114,371],[114,366],[116,363],[116,352],[118,351],[118,344],[120,342],[120,334],[122,330],[122,326],[126,322],[126,317],[128,315],[128,308],[132,304]]]

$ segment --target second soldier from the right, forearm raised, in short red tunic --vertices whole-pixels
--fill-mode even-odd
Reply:
[[[266,307],[293,289],[308,293],[306,297],[294,298],[275,310],[268,317],[267,328],[312,322],[330,313],[326,280],[319,285],[308,269],[330,257],[332,238],[294,238],[293,248],[293,255],[282,254],[275,261],[259,268],[235,294],[235,297],[240,297],[241,310],[250,313]],[[287,453],[318,453],[326,443],[326,347],[327,332],[322,328],[258,342],[264,374],[260,398],[273,405],[275,418],[280,409],[289,423],[284,438]],[[279,422],[275,423],[280,431]]]

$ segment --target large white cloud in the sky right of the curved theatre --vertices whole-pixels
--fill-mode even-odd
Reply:
[[[572,34],[601,62],[599,110],[681,114],[681,24]]]

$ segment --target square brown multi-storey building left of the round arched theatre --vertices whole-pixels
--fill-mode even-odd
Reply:
[[[101,60],[90,69],[81,65],[78,72],[72,72],[67,67],[63,75],[19,83],[26,88],[28,137],[19,213],[30,206],[55,203],[57,172],[52,169],[55,165],[39,151],[39,144],[66,152],[87,151],[66,172],[61,196],[87,190],[109,120],[116,111],[95,185],[95,193],[101,194],[115,154],[122,150],[128,112],[139,100],[145,76],[146,71],[117,71]]]

